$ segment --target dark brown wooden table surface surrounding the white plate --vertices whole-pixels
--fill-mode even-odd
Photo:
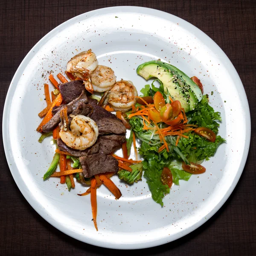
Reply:
[[[224,206],[189,235],[150,249],[115,251],[76,241],[41,218],[17,188],[1,142],[0,255],[256,255],[256,175],[253,159],[256,157],[255,0],[1,0],[1,117],[10,81],[20,62],[39,39],[76,15],[118,5],[145,6],[183,18],[209,35],[230,58],[244,84],[252,119],[250,151],[239,183]]]

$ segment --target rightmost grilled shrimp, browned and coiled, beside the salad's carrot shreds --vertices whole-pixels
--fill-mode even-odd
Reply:
[[[117,81],[108,95],[108,103],[116,111],[128,111],[136,104],[138,96],[136,87],[131,81]]]

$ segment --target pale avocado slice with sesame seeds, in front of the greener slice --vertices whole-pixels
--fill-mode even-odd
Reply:
[[[185,112],[190,111],[190,100],[185,93],[184,84],[182,84],[177,75],[172,72],[163,62],[148,61],[137,67],[137,74],[148,80],[156,77],[163,83],[164,90],[170,93],[172,99],[180,101]]]

